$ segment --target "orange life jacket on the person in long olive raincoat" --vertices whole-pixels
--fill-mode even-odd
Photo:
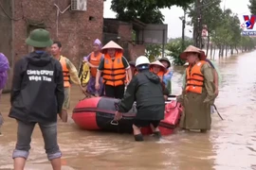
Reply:
[[[205,60],[196,62],[193,66],[190,65],[186,70],[186,92],[202,93],[204,85],[204,76],[201,72],[202,66],[206,63]]]

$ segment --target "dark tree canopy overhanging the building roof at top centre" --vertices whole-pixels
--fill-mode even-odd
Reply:
[[[193,0],[112,0],[111,9],[117,12],[121,21],[138,19],[145,24],[162,24],[164,16],[160,8],[171,8],[176,5],[186,7]]]

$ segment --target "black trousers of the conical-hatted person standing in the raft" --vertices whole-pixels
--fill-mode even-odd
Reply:
[[[110,86],[105,85],[105,96],[112,97],[112,98],[119,98],[121,99],[124,94],[124,88],[125,85],[119,85],[119,86]]]

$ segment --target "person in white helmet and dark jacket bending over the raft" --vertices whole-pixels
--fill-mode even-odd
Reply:
[[[134,120],[136,141],[143,141],[140,127],[151,126],[156,137],[160,137],[158,125],[164,119],[165,100],[160,78],[149,71],[150,61],[145,56],[136,60],[138,74],[129,83],[124,97],[117,105],[115,120],[121,118],[120,112],[131,110],[137,102],[137,115]]]

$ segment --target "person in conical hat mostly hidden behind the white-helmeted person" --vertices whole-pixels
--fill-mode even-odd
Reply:
[[[166,73],[165,66],[159,60],[155,60],[155,62],[152,62],[150,64],[150,71],[153,72],[155,75],[159,76],[159,78],[161,79],[162,85],[164,86],[164,98],[165,100],[168,100],[168,95],[170,92],[166,88],[165,83],[163,81],[164,74]]]

